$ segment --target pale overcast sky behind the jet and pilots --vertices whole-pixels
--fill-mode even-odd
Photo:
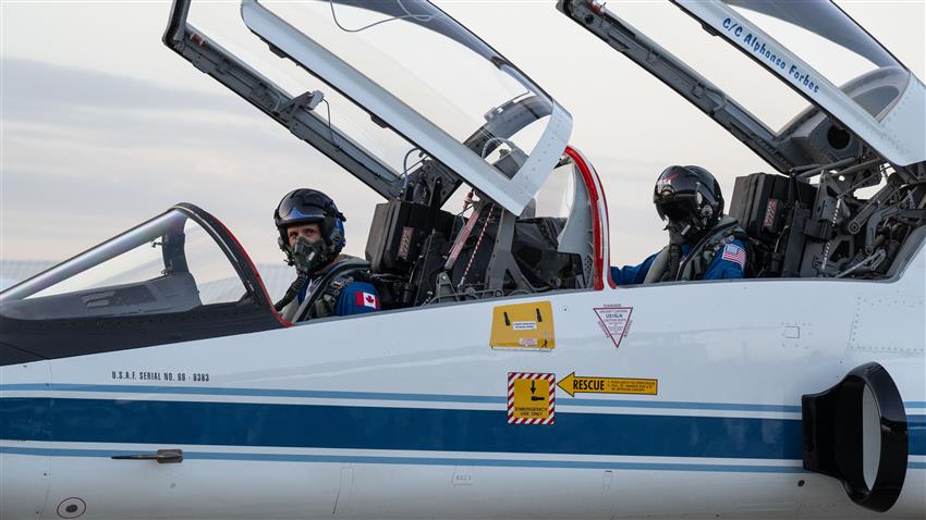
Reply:
[[[707,168],[728,197],[736,175],[771,171],[553,2],[437,3],[573,114],[571,143],[607,191],[612,263],[636,263],[666,243],[650,190],[667,165]],[[666,38],[703,34],[653,2],[609,7],[619,4]],[[924,77],[922,0],[840,5]],[[255,261],[281,261],[271,213],[302,186],[337,200],[348,215],[348,251],[363,256],[378,196],[166,48],[169,9],[161,1],[0,0],[0,258],[64,259],[188,201],[222,220]],[[691,52],[677,41],[679,53]],[[720,86],[739,82],[731,87],[741,89],[738,99],[784,120],[796,113],[784,99],[790,91],[775,98],[782,104],[769,103],[779,87],[765,77],[744,82],[723,51],[700,58],[718,67],[719,79],[709,77]]]

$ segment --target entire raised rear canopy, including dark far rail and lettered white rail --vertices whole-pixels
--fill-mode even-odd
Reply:
[[[926,87],[833,3],[671,0],[646,8],[558,3],[779,172],[867,150],[898,166],[926,160]]]

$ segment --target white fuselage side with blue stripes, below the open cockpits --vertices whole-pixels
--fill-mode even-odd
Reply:
[[[923,518],[924,271],[921,248],[892,282],[606,287],[3,367],[20,436],[0,516],[69,518],[80,498],[88,519]],[[492,308],[537,300],[556,348],[490,348]],[[617,348],[594,311],[609,305],[633,309]],[[885,515],[801,462],[801,396],[868,361],[912,421]],[[558,388],[553,424],[508,424],[509,372],[658,394]],[[110,459],[172,448],[181,463]]]

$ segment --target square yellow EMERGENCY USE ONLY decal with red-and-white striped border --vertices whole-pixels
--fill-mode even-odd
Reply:
[[[556,374],[508,373],[508,423],[552,424]]]

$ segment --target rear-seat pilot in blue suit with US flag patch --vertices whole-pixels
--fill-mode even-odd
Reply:
[[[618,285],[743,277],[748,237],[735,219],[723,215],[723,195],[710,172],[667,168],[656,179],[653,202],[668,222],[669,245],[638,265],[611,267]]]

